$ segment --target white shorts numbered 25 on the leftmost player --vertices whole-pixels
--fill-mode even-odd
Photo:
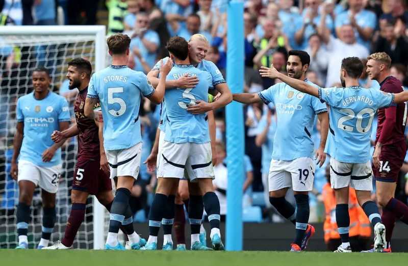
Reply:
[[[49,193],[57,193],[62,164],[52,167],[37,166],[29,161],[18,161],[17,181],[29,180]]]

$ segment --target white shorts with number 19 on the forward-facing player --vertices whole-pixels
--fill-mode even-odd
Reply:
[[[293,191],[312,191],[315,178],[313,159],[301,157],[293,161],[272,159],[269,168],[269,191],[293,187]]]

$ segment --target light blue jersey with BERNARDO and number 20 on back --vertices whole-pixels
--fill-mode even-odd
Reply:
[[[319,98],[330,105],[327,154],[343,163],[367,163],[374,115],[391,105],[394,94],[355,86],[319,88]]]

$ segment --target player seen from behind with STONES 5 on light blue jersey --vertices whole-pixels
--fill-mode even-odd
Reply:
[[[112,65],[93,74],[85,101],[85,116],[94,119],[94,107],[98,102],[104,118],[104,147],[107,154],[110,177],[117,178],[117,190],[111,207],[106,249],[124,250],[117,234],[121,225],[132,225],[133,212],[129,205],[134,179],[139,174],[141,135],[139,108],[141,95],[158,104],[163,100],[165,78],[171,68],[171,60],[161,68],[161,78],[156,90],[146,75],[126,66],[129,57],[130,38],[116,34],[108,38]],[[109,78],[108,78],[109,77]],[[125,136],[125,137],[124,137]],[[126,232],[127,233],[127,232]],[[145,240],[136,233],[129,238],[133,249],[139,249]]]

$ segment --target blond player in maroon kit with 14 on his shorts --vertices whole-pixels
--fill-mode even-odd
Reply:
[[[383,92],[402,92],[401,82],[390,75],[391,58],[385,52],[368,57],[367,73],[376,80]],[[382,207],[382,222],[386,226],[386,247],[391,252],[391,237],[395,220],[408,224],[408,206],[394,198],[398,173],[406,154],[405,121],[406,103],[393,103],[389,108],[378,109],[378,126],[373,154],[373,174],[376,196]],[[372,250],[370,250],[372,251]]]

